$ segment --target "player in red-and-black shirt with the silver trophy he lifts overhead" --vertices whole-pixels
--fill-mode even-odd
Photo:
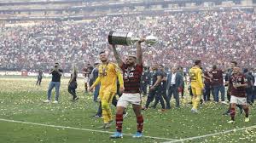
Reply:
[[[155,37],[137,38],[133,37],[132,32],[116,32],[110,31],[108,42],[113,46],[113,55],[118,62],[119,67],[123,71],[125,90],[117,104],[116,111],[116,132],[111,135],[111,138],[122,138],[123,112],[129,104],[132,105],[133,111],[137,117],[137,133],[134,138],[142,137],[143,132],[143,115],[141,113],[142,97],[140,94],[140,80],[143,74],[143,50],[141,43],[154,44]],[[137,43],[137,56],[129,55],[124,63],[116,49],[116,44],[131,45]]]

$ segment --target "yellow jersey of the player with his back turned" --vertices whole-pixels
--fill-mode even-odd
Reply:
[[[199,66],[193,66],[189,70],[189,77],[191,81],[191,87],[204,88],[204,84],[202,81],[202,71]]]

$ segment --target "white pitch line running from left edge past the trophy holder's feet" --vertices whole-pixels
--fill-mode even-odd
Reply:
[[[15,120],[9,120],[9,119],[4,119],[4,118],[0,118],[0,121],[9,122],[9,123],[32,124],[32,125],[52,127],[52,128],[61,128],[61,129],[76,129],[76,130],[84,130],[84,131],[91,131],[91,132],[108,133],[108,134],[113,134],[114,133],[114,132],[103,131],[103,130],[95,130],[95,129],[81,129],[81,128],[75,128],[75,127],[56,126],[56,125],[43,124],[43,123],[29,123],[29,122],[15,121]],[[124,135],[132,136],[133,134],[124,134]],[[154,136],[148,136],[148,135],[143,135],[143,137],[144,138],[151,138],[151,139],[159,139],[159,140],[175,140],[175,139],[170,139],[170,138],[161,138],[161,137],[154,137]]]

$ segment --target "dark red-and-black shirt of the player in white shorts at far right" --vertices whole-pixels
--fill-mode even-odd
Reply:
[[[235,84],[245,84],[247,83],[246,77],[239,73],[238,75],[232,74],[230,77],[230,92],[231,95],[236,96],[236,97],[246,97],[246,87],[239,87],[239,88],[234,88],[233,85]]]

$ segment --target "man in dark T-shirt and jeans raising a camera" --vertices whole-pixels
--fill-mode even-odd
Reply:
[[[49,74],[52,74],[51,82],[49,83],[48,88],[48,99],[44,100],[44,103],[49,103],[51,98],[51,90],[55,88],[55,101],[53,103],[58,103],[59,94],[60,94],[60,86],[61,86],[61,76],[62,70],[60,69],[60,64],[55,62],[55,66],[53,69],[50,69]]]

